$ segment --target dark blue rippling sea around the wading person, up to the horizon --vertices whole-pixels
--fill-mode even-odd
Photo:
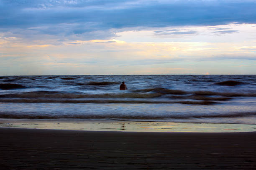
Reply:
[[[256,124],[256,75],[0,76],[0,118]]]

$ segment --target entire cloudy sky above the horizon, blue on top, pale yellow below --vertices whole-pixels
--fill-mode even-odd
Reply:
[[[255,0],[0,0],[0,75],[255,74]]]

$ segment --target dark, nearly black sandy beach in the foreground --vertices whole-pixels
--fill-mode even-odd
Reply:
[[[0,128],[5,170],[255,170],[256,133],[146,133]]]

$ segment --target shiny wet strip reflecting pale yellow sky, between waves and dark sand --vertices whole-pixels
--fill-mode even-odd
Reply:
[[[150,122],[125,120],[0,119],[0,128],[59,129],[119,132],[255,132],[256,125],[232,123]]]

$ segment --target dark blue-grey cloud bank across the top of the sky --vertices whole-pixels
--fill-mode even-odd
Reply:
[[[107,31],[101,36],[111,37],[115,32],[109,30],[120,28],[256,23],[255,9],[253,0],[2,0],[0,28],[90,39],[93,32]]]

